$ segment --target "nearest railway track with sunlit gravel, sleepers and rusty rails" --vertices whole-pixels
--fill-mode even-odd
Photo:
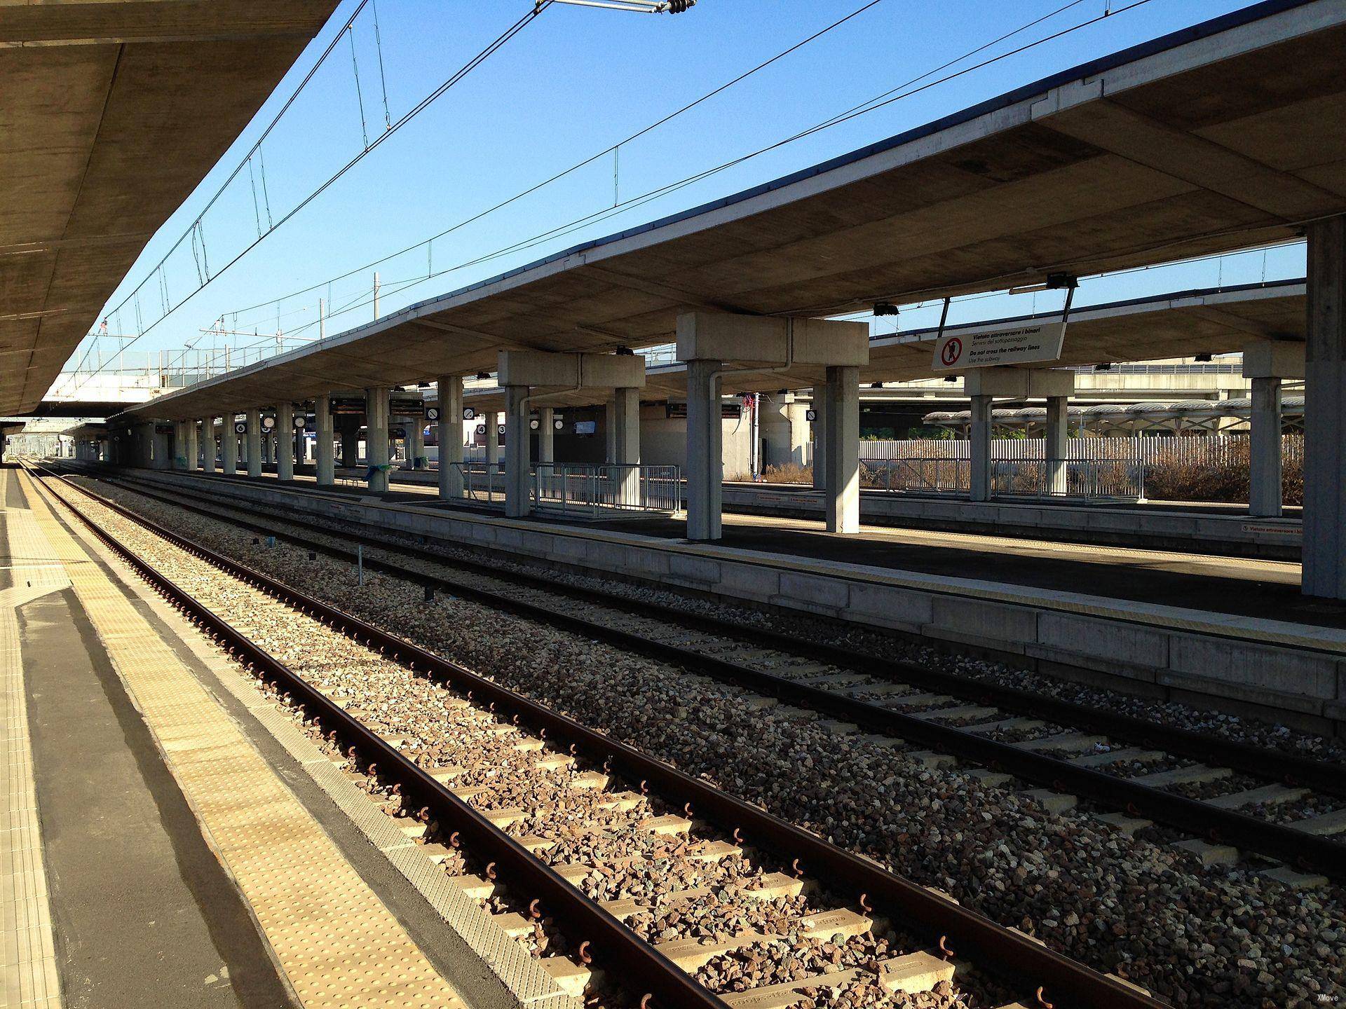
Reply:
[[[642,1005],[1159,1005],[114,502],[38,483],[302,708],[572,992],[602,970]]]

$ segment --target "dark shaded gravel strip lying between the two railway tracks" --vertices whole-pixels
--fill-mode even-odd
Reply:
[[[725,685],[467,600],[425,607],[398,580],[357,589],[349,565],[252,545],[159,502],[127,503],[1174,1004],[1307,1006],[1346,994],[1339,887],[1296,893],[1237,869],[1199,870],[966,774],[752,710]]]

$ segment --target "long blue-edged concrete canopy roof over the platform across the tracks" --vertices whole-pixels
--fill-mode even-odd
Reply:
[[[160,397],[186,417],[1285,239],[1346,213],[1346,7],[1267,0]]]

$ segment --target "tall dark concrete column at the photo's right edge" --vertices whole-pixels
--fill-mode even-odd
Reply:
[[[1303,592],[1346,599],[1346,217],[1308,226]]]

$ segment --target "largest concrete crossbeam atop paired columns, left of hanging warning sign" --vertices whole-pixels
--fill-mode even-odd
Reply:
[[[677,359],[782,367],[860,367],[870,363],[870,326],[825,319],[684,312],[677,317]]]

